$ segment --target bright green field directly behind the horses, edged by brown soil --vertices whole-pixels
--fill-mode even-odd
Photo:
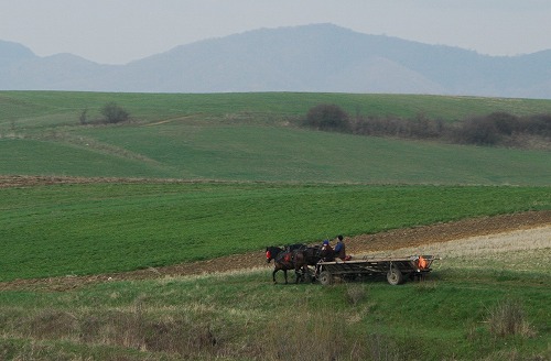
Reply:
[[[549,187],[96,184],[0,188],[0,198],[1,281],[551,208]]]

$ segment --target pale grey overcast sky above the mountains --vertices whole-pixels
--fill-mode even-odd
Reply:
[[[551,0],[0,0],[0,40],[127,64],[261,28],[333,23],[488,55],[551,48]]]

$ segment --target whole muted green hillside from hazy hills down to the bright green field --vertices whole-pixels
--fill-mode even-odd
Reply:
[[[307,131],[309,107],[454,121],[551,111],[551,101],[434,96],[0,92],[0,175],[368,184],[549,185],[548,151]],[[79,125],[110,100],[132,122]]]

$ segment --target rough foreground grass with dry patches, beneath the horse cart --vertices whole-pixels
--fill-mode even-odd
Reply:
[[[522,256],[522,252],[509,258]],[[274,286],[270,270],[0,293],[0,355],[33,360],[545,360],[548,272],[465,270],[423,283]],[[238,299],[238,300],[237,300]],[[500,336],[493,315],[519,311]]]

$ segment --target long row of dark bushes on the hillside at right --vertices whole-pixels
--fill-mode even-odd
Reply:
[[[515,116],[493,112],[456,122],[429,119],[419,114],[412,119],[398,117],[350,117],[336,105],[312,107],[302,124],[322,131],[336,131],[371,136],[437,140],[458,144],[531,146],[533,140],[550,145],[551,114]]]

